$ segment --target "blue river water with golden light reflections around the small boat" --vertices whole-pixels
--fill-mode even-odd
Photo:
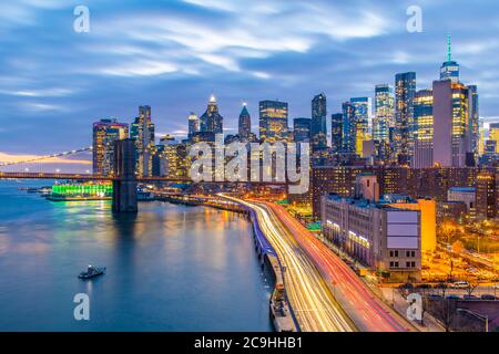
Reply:
[[[0,331],[271,331],[251,225],[205,207],[51,202],[0,180]],[[105,275],[83,281],[88,264]],[[77,321],[77,293],[90,321]]]

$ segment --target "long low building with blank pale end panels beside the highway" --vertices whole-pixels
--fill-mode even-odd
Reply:
[[[363,180],[359,181],[359,178]],[[414,202],[414,209],[391,206],[379,200],[379,191],[375,189],[376,177],[360,175],[354,199],[334,194],[323,196],[320,216],[324,236],[350,257],[385,274],[387,281],[419,281],[419,205]],[[405,204],[409,202],[413,201]]]

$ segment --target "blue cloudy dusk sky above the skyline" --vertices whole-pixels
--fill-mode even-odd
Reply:
[[[90,32],[73,30],[77,6]],[[422,10],[410,33],[409,6]],[[447,34],[461,81],[478,85],[480,115],[499,121],[497,0],[11,0],[0,2],[0,153],[48,154],[91,145],[91,124],[131,122],[152,106],[159,134],[185,134],[191,111],[214,93],[227,133],[247,102],[289,103],[309,116],[324,92],[328,113],[374,86],[416,71],[438,79]],[[256,131],[256,129],[255,129]]]

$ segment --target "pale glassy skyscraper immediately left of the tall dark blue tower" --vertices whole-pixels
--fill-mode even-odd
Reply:
[[[394,126],[394,88],[387,84],[376,85],[373,139],[389,143],[389,128]]]

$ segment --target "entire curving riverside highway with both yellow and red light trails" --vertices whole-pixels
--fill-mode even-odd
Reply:
[[[302,331],[415,330],[282,206],[224,197],[255,210],[259,227],[284,268],[286,294]]]

